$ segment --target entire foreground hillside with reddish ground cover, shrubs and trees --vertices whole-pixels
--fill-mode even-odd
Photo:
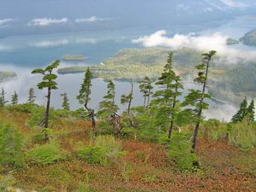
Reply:
[[[22,104],[16,91],[11,103],[1,91],[0,190],[254,191],[254,101],[248,105],[245,97],[230,123],[203,117],[216,54],[201,55],[194,79],[201,88],[190,89],[182,99],[182,77],[170,52],[155,83],[148,77],[139,81],[143,106],[132,106],[131,81],[129,94],[119,98],[123,113],[112,80],[98,110],[90,108],[89,67],[77,96],[84,108],[75,111],[67,92],[61,94],[62,109],[50,108],[60,61],[32,70],[42,76],[37,85],[47,90],[46,108],[35,104],[33,89]]]

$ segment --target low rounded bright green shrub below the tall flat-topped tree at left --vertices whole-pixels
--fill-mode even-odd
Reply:
[[[68,153],[61,150],[58,144],[46,143],[30,149],[26,152],[26,156],[29,161],[38,165],[49,165],[56,161],[67,160]]]

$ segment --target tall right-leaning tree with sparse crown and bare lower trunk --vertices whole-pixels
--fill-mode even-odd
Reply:
[[[211,98],[211,95],[207,93],[207,80],[210,63],[212,57],[216,55],[215,50],[209,51],[209,53],[202,54],[202,63],[196,66],[196,69],[199,70],[198,77],[195,79],[195,82],[202,84],[202,90],[190,90],[189,95],[185,96],[185,101],[183,102],[186,106],[194,107],[195,113],[195,131],[193,136],[193,145],[192,148],[195,151],[196,142],[198,137],[198,131],[201,124],[202,112],[204,109],[207,109],[209,104],[205,102],[206,98]]]

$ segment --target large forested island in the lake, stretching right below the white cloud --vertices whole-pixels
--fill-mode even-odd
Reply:
[[[58,73],[84,73],[90,67],[95,78],[140,80],[146,75],[156,79],[165,66],[164,58],[168,51],[170,49],[122,49],[113,57],[102,61],[101,65],[64,67],[58,69]],[[201,62],[201,52],[190,48],[176,49],[173,50],[173,57],[176,73],[191,81],[195,76],[194,66]],[[254,62],[230,65],[216,58],[212,61],[210,70],[208,89],[219,100],[238,102],[245,94],[256,95]]]

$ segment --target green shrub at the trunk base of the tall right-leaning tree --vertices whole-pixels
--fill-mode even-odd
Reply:
[[[181,171],[193,172],[197,157],[195,153],[191,153],[192,144],[189,141],[189,136],[190,134],[174,132],[168,155],[176,160]]]

